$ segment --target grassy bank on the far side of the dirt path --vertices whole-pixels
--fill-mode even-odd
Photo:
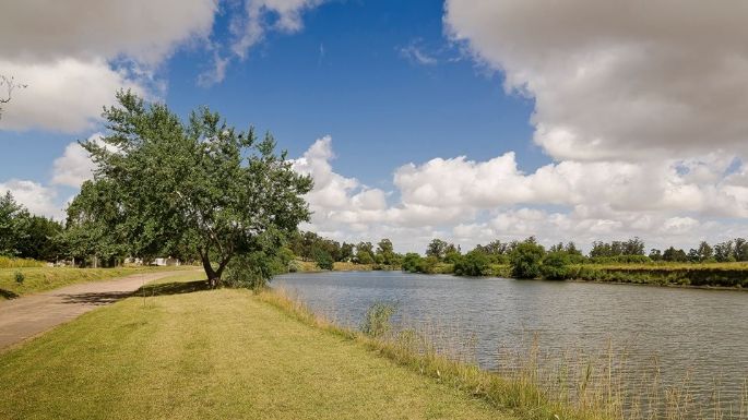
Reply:
[[[0,300],[56,289],[76,283],[106,280],[115,277],[158,271],[192,269],[194,267],[116,267],[116,268],[70,268],[70,267],[16,267],[0,268]],[[19,274],[22,281],[17,281]]]

